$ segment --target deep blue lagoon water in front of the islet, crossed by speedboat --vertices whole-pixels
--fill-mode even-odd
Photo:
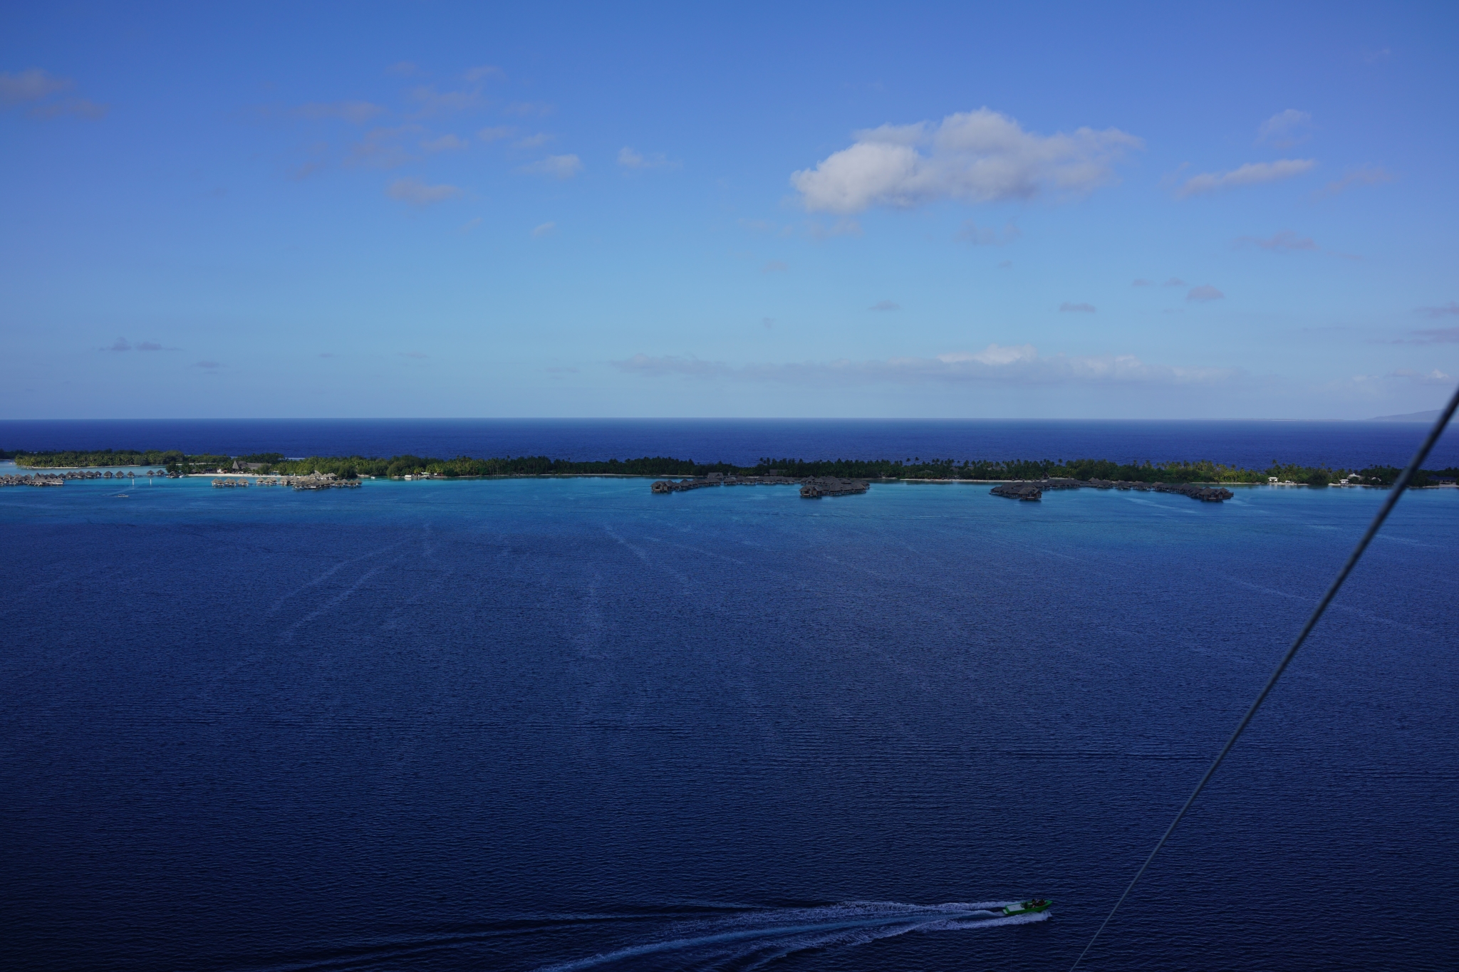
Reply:
[[[4,966],[1067,969],[1383,495],[0,490]],[[1453,968],[1456,549],[1405,495],[1090,969]]]

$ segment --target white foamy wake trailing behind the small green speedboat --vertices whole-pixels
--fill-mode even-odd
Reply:
[[[907,931],[966,931],[1043,921],[1048,912],[1002,917],[1011,901],[978,904],[906,905],[902,902],[846,902],[826,908],[783,908],[748,915],[678,922],[673,937],[603,952],[585,959],[544,966],[540,972],[578,972],[601,965],[667,952],[700,953],[699,957],[750,957],[757,968],[802,949],[861,944]],[[694,934],[694,933],[699,934]]]

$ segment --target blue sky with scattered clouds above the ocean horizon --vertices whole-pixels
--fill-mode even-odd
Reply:
[[[1364,418],[1453,4],[4,4],[0,415]]]

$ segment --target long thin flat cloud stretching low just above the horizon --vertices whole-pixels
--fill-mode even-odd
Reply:
[[[1191,369],[1145,364],[1132,354],[1040,357],[1032,344],[989,344],[978,353],[950,351],[932,358],[894,357],[875,361],[805,361],[794,364],[744,364],[705,361],[696,357],[635,354],[614,367],[643,377],[696,377],[744,382],[789,382],[800,385],[871,385],[945,382],[1065,385],[1065,383],[1158,383],[1214,385],[1236,376],[1230,369]]]

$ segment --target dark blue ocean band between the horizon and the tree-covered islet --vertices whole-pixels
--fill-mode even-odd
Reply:
[[[928,420],[0,420],[0,449],[181,449],[225,455],[413,453],[553,459],[1210,459],[1360,469],[1405,465],[1427,431],[1393,421],[928,421]],[[1459,466],[1459,431],[1431,469]]]

